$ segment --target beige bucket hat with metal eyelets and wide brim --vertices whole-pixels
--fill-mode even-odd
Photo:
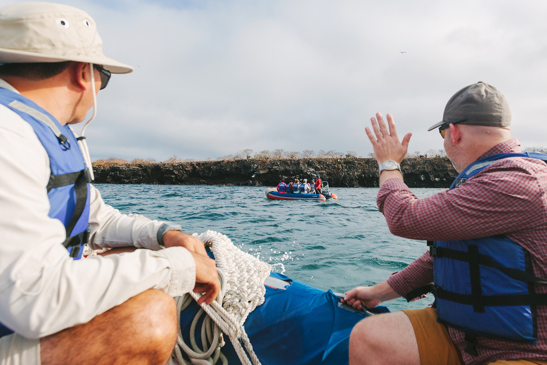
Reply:
[[[0,8],[0,62],[63,61],[100,64],[114,74],[133,71],[104,56],[95,21],[83,10],[43,2]]]

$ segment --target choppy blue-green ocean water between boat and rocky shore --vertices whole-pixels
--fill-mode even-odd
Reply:
[[[272,201],[265,187],[95,185],[122,213],[179,223],[185,232],[226,234],[241,250],[295,280],[345,292],[386,280],[427,251],[395,237],[376,207],[377,188],[332,188],[339,199]],[[442,189],[414,189],[426,197]],[[385,302],[392,311],[423,308],[432,296]]]

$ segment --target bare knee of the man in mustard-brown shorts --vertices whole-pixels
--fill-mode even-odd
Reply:
[[[404,312],[377,314],[357,323],[350,336],[350,365],[420,365],[416,335]]]

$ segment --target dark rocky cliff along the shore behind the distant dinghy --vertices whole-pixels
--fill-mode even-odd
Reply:
[[[449,187],[457,176],[450,161],[442,157],[405,158],[401,169],[410,187]],[[334,187],[378,186],[378,165],[373,158],[96,164],[94,172],[96,184],[276,186],[281,180],[319,175]]]

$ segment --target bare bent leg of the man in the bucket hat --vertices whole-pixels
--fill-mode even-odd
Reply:
[[[164,365],[177,339],[173,298],[150,289],[83,325],[42,338],[42,365]]]

